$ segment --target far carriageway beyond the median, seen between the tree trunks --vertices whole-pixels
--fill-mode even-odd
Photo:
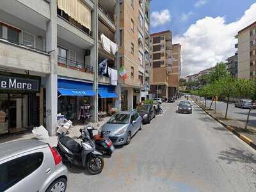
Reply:
[[[211,100],[207,100],[206,106],[209,107],[210,105],[211,105]],[[227,108],[226,102],[222,102],[222,101],[217,102],[216,111],[219,111],[220,113],[225,114],[226,108]],[[212,109],[214,109],[214,103],[212,104]],[[248,115],[248,109],[236,108],[235,104],[233,103],[228,104],[228,117],[235,118],[239,122],[242,122],[245,124],[247,115]],[[256,127],[256,111],[255,110],[252,110],[250,114],[249,125]]]

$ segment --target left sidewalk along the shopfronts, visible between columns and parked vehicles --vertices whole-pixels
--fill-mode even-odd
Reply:
[[[95,129],[99,129],[103,124],[105,124],[109,120],[110,116],[106,116],[102,118],[98,123],[89,123],[88,125],[91,125]],[[88,125],[85,125],[88,126]],[[83,128],[84,125],[76,125],[74,126],[70,133],[67,135],[70,138],[78,138],[80,136],[79,129]],[[12,135],[8,136],[7,138],[3,138],[0,140],[0,143],[6,143],[10,141],[18,141],[18,140],[27,140],[27,139],[33,139],[34,136],[32,133],[24,133],[24,134],[18,134],[18,135]],[[56,146],[57,145],[57,136],[50,136],[47,140],[40,140],[44,141],[45,143],[49,143],[51,146]]]

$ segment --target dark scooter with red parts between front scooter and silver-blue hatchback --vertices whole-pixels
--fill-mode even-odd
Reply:
[[[86,129],[89,132],[90,139],[94,141],[96,149],[102,154],[111,156],[115,147],[109,139],[108,134],[105,131],[100,131],[100,133],[98,132],[98,134],[93,136],[93,131],[97,131],[97,129],[91,126],[86,127]]]

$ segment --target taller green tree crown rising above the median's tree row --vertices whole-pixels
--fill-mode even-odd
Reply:
[[[217,63],[209,74],[209,83],[214,83],[215,81],[219,81],[221,78],[228,76],[230,76],[230,73],[227,70],[226,64],[223,62]]]

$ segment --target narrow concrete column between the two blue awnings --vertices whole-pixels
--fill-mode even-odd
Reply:
[[[92,30],[93,30],[93,38],[95,40],[95,45],[93,45],[91,49],[91,63],[94,68],[94,83],[93,83],[93,91],[95,92],[95,96],[93,97],[93,115],[92,121],[98,122],[98,0],[94,0],[94,10],[92,12]]]

